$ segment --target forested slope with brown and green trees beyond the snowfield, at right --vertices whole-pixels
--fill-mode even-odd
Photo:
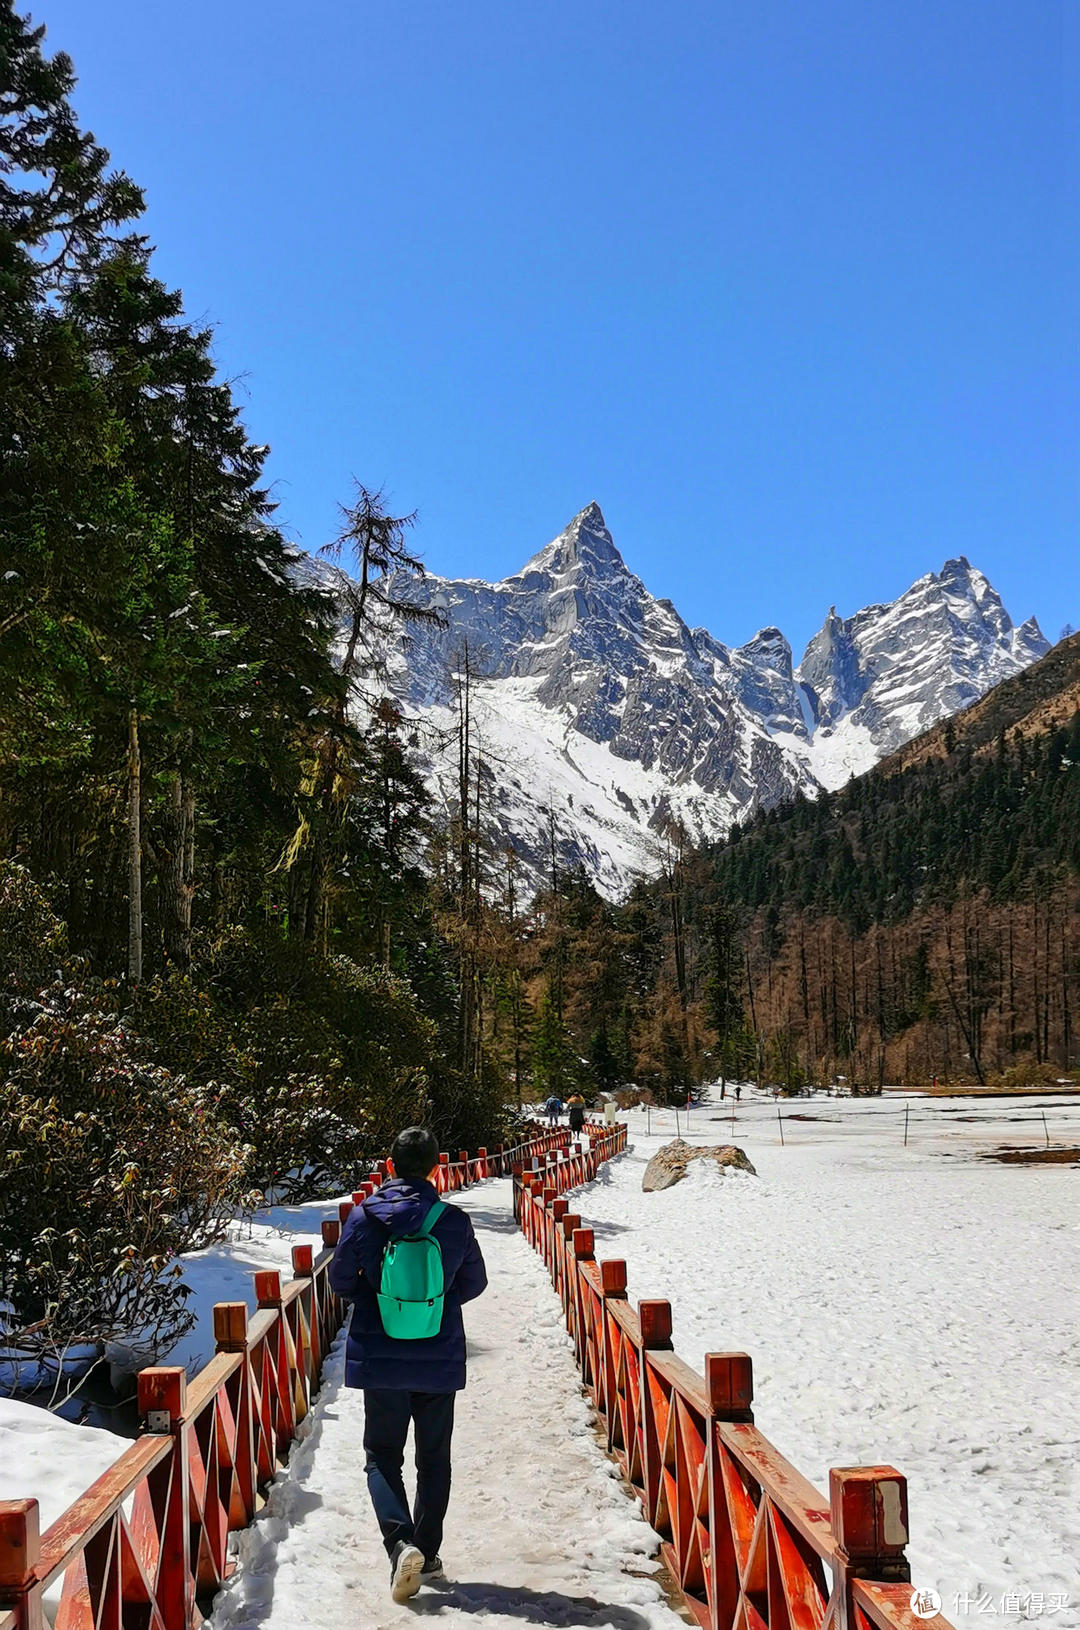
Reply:
[[[632,1069],[670,1090],[1075,1069],[1080,636],[841,792],[705,852],[673,833],[608,947]]]

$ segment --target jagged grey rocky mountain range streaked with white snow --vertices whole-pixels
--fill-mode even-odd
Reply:
[[[718,838],[798,791],[841,786],[1049,649],[964,559],[893,605],[829,611],[798,668],[775,628],[728,647],[648,593],[598,504],[498,584],[388,587],[445,618],[388,650],[437,799],[450,810],[458,795],[468,665],[497,848],[538,879],[554,822],[560,864],[583,864],[608,895],[658,869],[673,818]]]

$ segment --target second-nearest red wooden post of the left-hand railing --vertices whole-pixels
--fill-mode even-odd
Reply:
[[[187,1457],[187,1376],[181,1364],[155,1364],[138,1371],[138,1418],[148,1433],[168,1433],[173,1454],[151,1477],[161,1552],[158,1557],[156,1604],[165,1630],[187,1630],[195,1609],[195,1578],[191,1566],[191,1487]]]

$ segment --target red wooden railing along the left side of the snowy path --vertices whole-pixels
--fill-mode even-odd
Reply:
[[[438,1188],[510,1175],[565,1149],[565,1126],[510,1149],[440,1156]],[[217,1353],[187,1384],[178,1366],[138,1376],[143,1434],[39,1534],[37,1501],[0,1501],[0,1630],[192,1630],[231,1571],[228,1535],[251,1522],[311,1407],[344,1307],[327,1268],[342,1221],[386,1175],[376,1169],[340,1221],[323,1224],[318,1258],[293,1247],[295,1278],[254,1275],[257,1312],[213,1309]]]

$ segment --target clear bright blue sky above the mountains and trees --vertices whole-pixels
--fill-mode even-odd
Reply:
[[[23,5],[306,548],[355,474],[451,575],[598,499],[733,642],[1080,623],[1075,0]]]

